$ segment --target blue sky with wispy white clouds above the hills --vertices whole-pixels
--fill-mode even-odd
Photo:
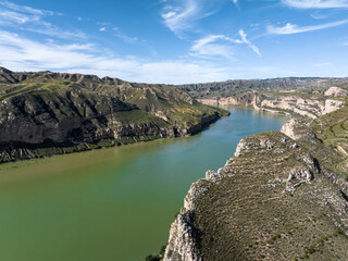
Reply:
[[[0,65],[146,83],[348,76],[348,0],[0,0]]]

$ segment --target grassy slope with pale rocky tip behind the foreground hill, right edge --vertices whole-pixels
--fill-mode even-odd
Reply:
[[[348,133],[345,128],[348,123],[347,110],[345,107],[311,123],[290,120],[281,130],[319,159],[322,173],[344,195],[348,195]]]

